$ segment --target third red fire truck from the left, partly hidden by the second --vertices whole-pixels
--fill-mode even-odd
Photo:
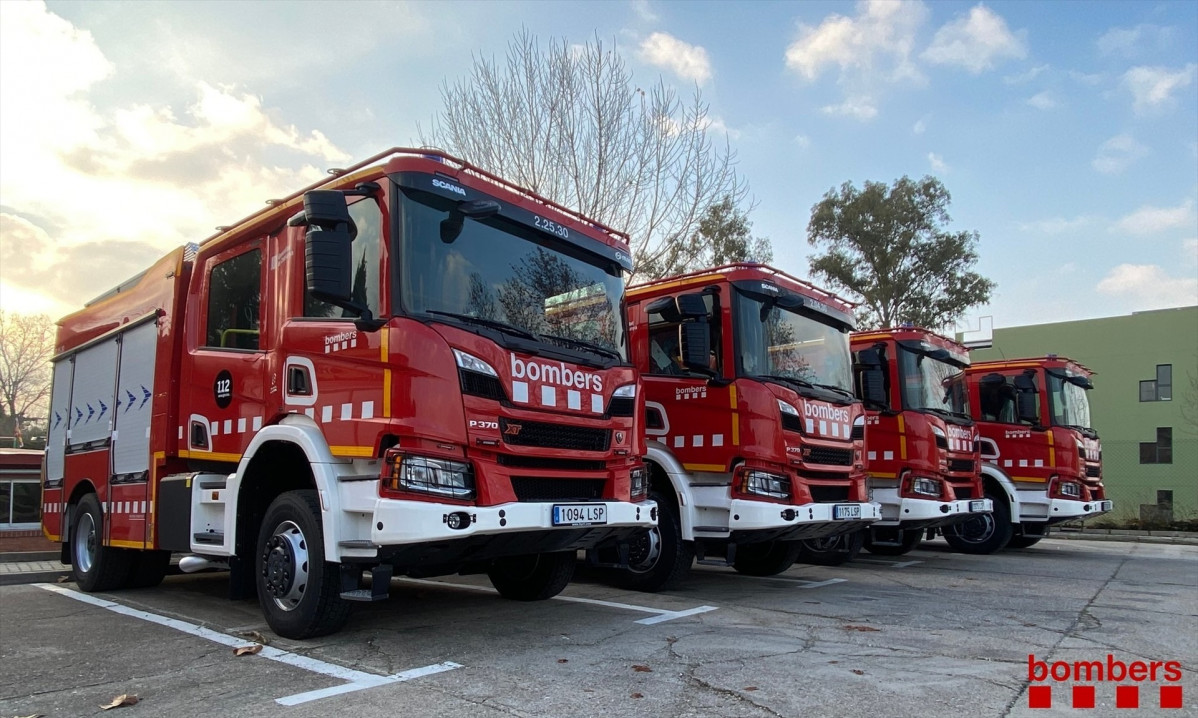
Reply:
[[[968,350],[915,327],[859,332],[852,346],[866,409],[870,497],[882,505],[865,548],[906,554],[930,529],[988,513],[969,416]]]

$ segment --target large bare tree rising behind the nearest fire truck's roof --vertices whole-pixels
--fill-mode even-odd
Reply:
[[[746,193],[727,139],[712,140],[698,88],[686,103],[660,78],[639,88],[598,37],[543,49],[524,30],[504,66],[476,56],[471,74],[441,96],[420,143],[627,231],[641,280],[698,266],[671,247],[697,233],[708,207]]]

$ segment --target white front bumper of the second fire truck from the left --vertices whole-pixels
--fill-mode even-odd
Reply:
[[[846,513],[843,507],[857,507],[859,513],[853,518],[837,518]],[[882,518],[882,507],[872,501],[787,506],[733,499],[730,508],[730,538],[737,543],[840,536],[864,529]],[[852,509],[847,513],[852,513]]]

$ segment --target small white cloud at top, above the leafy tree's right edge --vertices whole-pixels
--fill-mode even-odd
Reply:
[[[1028,54],[1024,32],[1012,34],[1006,20],[985,5],[957,17],[936,31],[932,44],[920,55],[936,65],[957,65],[978,74],[999,61]]]

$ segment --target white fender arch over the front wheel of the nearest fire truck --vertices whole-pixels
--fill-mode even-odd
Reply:
[[[228,545],[237,545],[237,497],[241,495],[241,482],[249,469],[249,463],[254,454],[267,441],[285,441],[295,444],[308,457],[308,465],[311,467],[311,476],[316,482],[316,491],[320,495],[320,515],[325,535],[325,560],[339,560],[341,551],[341,502],[337,488],[337,477],[352,471],[353,463],[350,459],[334,457],[328,451],[328,442],[320,427],[303,414],[289,414],[283,420],[268,427],[264,427],[249,447],[241,457],[237,472],[229,478],[228,489],[231,502],[226,503],[225,511],[225,536],[231,537]]]

